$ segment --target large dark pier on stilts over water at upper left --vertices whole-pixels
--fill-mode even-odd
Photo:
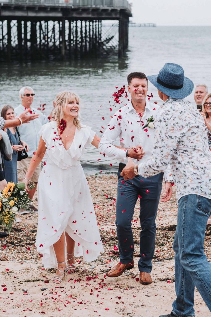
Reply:
[[[3,0],[0,61],[71,60],[114,50],[120,57],[130,16],[127,0]],[[106,32],[104,20],[114,20]]]

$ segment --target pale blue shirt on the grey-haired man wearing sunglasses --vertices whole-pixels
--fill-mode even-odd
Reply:
[[[15,113],[19,116],[25,110],[26,108],[20,104],[15,108]],[[43,124],[49,122],[48,117],[41,111],[33,107],[31,107],[31,111],[32,113],[39,113],[39,117],[35,120],[29,121],[29,123],[24,123],[22,126],[18,126],[18,132],[20,133],[21,140],[25,141],[29,146],[29,152],[27,152],[27,154],[30,158],[33,156],[33,152],[35,152],[38,147],[40,141],[39,131],[41,127]]]

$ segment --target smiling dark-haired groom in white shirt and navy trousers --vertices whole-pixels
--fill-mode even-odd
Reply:
[[[152,278],[152,259],[155,250],[156,236],[156,216],[160,200],[163,173],[144,179],[142,176],[136,176],[133,181],[125,182],[120,175],[122,163],[127,162],[127,158],[140,160],[143,156],[142,151],[134,152],[133,147],[144,149],[143,159],[149,159],[154,146],[154,125],[158,105],[148,101],[148,79],[145,74],[140,72],[128,75],[128,92],[131,94],[131,101],[120,110],[118,110],[99,143],[99,151],[105,155],[119,159],[121,164],[118,171],[118,192],[116,201],[116,227],[118,236],[118,246],[120,253],[119,263],[107,272],[108,277],[117,277],[127,269],[134,267],[133,251],[134,242],[131,229],[131,220],[133,218],[134,208],[137,199],[140,200],[140,259],[138,269],[140,271],[140,283],[150,284]],[[153,118],[149,124],[148,120]],[[112,127],[112,128],[111,128]],[[124,150],[116,148],[113,143],[120,138],[120,145],[129,148]],[[138,173],[137,173],[138,174]],[[165,180],[165,199],[167,202],[172,195],[172,183],[170,168],[164,171]],[[167,197],[168,196],[168,197]]]

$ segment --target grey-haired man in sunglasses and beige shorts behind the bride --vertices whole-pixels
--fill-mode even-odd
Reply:
[[[33,156],[33,153],[36,151],[38,147],[38,143],[40,140],[39,131],[41,127],[49,121],[51,114],[49,117],[47,117],[41,111],[37,110],[37,108],[32,107],[35,93],[31,87],[28,87],[28,86],[22,87],[19,91],[19,96],[21,98],[21,103],[19,104],[18,107],[15,108],[15,112],[17,116],[26,109],[30,109],[29,113],[31,114],[39,114],[39,117],[33,121],[30,121],[29,124],[25,124],[23,126],[18,127],[18,131],[22,139],[27,140],[26,143],[29,145],[29,152],[27,152],[28,158],[22,159],[21,161],[17,162],[18,180],[22,181],[22,179],[24,178],[24,175],[26,174],[28,170],[29,163]],[[41,171],[41,165],[37,167],[31,179],[35,183],[35,188],[29,191],[30,199],[33,199],[33,196],[35,194],[40,171]],[[38,211],[37,208],[33,204],[31,205],[30,208],[36,212]],[[31,211],[22,210],[20,213],[27,214],[29,212]]]

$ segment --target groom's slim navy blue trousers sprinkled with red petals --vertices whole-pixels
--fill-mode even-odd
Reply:
[[[116,204],[116,226],[120,262],[132,262],[134,243],[131,229],[134,207],[140,198],[140,260],[138,269],[150,273],[155,251],[156,216],[159,204],[163,174],[143,178],[136,176],[127,181],[118,172],[118,190]]]

